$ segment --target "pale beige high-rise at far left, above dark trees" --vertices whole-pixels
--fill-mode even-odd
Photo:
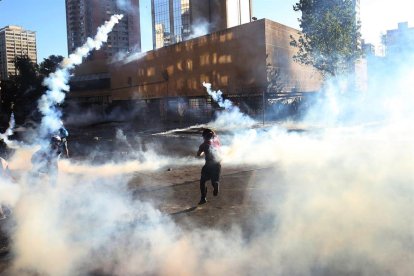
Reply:
[[[19,26],[0,29],[0,79],[6,80],[18,73],[14,66],[18,56],[28,56],[37,63],[36,33]]]

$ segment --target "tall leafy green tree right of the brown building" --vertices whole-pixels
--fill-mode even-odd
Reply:
[[[312,65],[325,77],[350,69],[361,56],[360,23],[353,0],[300,0],[293,6],[302,12],[299,37],[291,36],[298,48],[294,60]]]

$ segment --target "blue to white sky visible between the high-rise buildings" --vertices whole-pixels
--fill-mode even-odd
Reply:
[[[298,0],[253,0],[253,16],[267,18],[299,28],[299,12],[293,11]],[[142,48],[152,48],[150,0],[141,0]],[[361,0],[361,32],[366,42],[377,46],[381,33],[396,29],[399,22],[414,27],[413,0]],[[38,62],[49,55],[67,56],[64,0],[0,0],[0,28],[22,26],[35,31]]]

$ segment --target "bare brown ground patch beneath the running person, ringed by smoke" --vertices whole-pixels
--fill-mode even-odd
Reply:
[[[261,206],[254,197],[269,192],[269,186],[258,184],[269,173],[274,173],[274,169],[224,166],[219,195],[212,195],[209,184],[208,202],[203,205],[197,205],[200,199],[199,166],[139,173],[131,180],[130,187],[137,197],[152,201],[183,227],[225,229],[237,223],[249,231],[249,225],[244,222],[247,217],[257,216]]]

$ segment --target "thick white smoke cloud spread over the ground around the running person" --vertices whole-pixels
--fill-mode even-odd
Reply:
[[[101,165],[64,160],[53,187],[47,181],[30,181],[22,161],[29,163],[25,156],[30,154],[18,150],[20,156],[10,166],[23,172],[11,184],[18,191],[7,192],[15,195],[7,201],[13,204],[16,224],[9,229],[14,258],[6,272],[412,274],[414,70],[394,67],[372,77],[377,85],[365,94],[333,80],[307,120],[300,122],[300,132],[280,126],[229,130],[230,123],[241,126],[253,120],[205,84],[224,108],[217,120],[229,120],[230,112],[241,114],[231,117],[234,122],[217,125],[224,144],[223,168],[271,168],[248,184],[252,200],[246,208],[257,212],[248,218],[247,230],[239,224],[225,230],[182,227],[151,198],[133,196],[128,187],[135,172],[156,173],[171,165],[201,167],[195,159],[177,158],[155,146],[132,152],[131,160],[108,158]],[[123,131],[117,131],[116,140],[133,151]],[[187,176],[181,177],[184,183]],[[223,177],[222,187],[228,187],[228,179]]]

